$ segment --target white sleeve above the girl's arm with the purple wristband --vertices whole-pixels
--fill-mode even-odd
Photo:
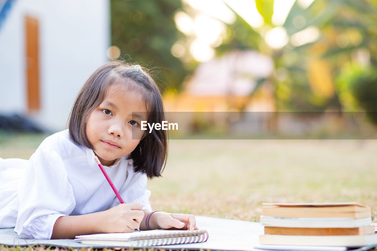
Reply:
[[[132,172],[132,177],[130,179],[130,182],[126,182],[119,191],[124,203],[139,202],[143,205],[143,210],[152,210],[149,203],[151,193],[147,190],[147,175],[144,173]],[[115,207],[119,204],[119,200],[115,197],[110,207]]]

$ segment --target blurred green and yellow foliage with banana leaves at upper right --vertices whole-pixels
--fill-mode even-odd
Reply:
[[[369,100],[377,100],[376,82],[371,74],[357,75],[360,79],[352,83],[342,78],[342,85],[349,88],[340,88],[337,79],[346,74],[349,64],[374,71],[377,67],[375,1],[314,0],[307,8],[296,1],[282,26],[288,43],[280,48],[266,43],[266,34],[274,28],[273,1],[256,0],[256,7],[264,18],[264,26],[253,29],[232,10],[236,22],[228,25],[227,39],[216,48],[216,54],[230,49],[256,49],[270,55],[275,72],[267,81],[274,84],[276,110],[341,111],[349,108],[346,102],[350,99],[343,98],[347,96],[359,100],[355,106],[362,106],[367,112],[372,109],[363,100],[367,93]],[[264,80],[258,83],[262,86]],[[257,88],[250,96],[256,91]]]

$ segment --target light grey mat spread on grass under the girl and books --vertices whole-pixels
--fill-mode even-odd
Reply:
[[[253,246],[259,244],[259,235],[263,234],[263,227],[259,222],[248,222],[244,220],[229,220],[213,217],[196,216],[196,222],[200,229],[208,231],[207,242],[188,243],[179,245],[158,246],[165,249],[211,249],[211,250],[255,250]],[[14,228],[0,229],[0,244],[8,246],[46,245],[58,247],[94,247],[104,248],[105,246],[84,245],[70,239],[62,240],[38,240],[23,239],[14,232]],[[111,247],[111,246],[106,246]]]

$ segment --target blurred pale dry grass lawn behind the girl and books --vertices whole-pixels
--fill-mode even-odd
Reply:
[[[5,136],[0,157],[29,158],[43,138]],[[377,140],[171,140],[163,177],[149,181],[150,202],[154,210],[259,221],[262,202],[356,201],[376,221],[376,149]]]

